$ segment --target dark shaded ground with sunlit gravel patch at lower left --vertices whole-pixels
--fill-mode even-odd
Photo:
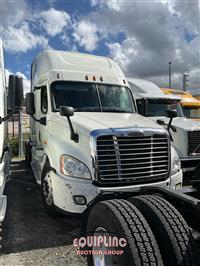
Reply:
[[[72,246],[80,233],[80,219],[47,215],[39,187],[24,161],[12,163],[5,194],[8,208],[0,265],[87,265]]]

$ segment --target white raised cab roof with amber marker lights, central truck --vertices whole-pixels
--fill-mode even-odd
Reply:
[[[50,82],[68,80],[128,86],[127,81],[124,84],[123,80],[126,79],[118,65],[110,58],[102,56],[45,50],[35,58],[32,67],[34,85],[49,79]],[[93,80],[93,76],[96,80]]]

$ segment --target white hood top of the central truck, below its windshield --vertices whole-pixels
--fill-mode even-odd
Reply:
[[[141,127],[163,129],[162,126],[139,114],[76,112],[71,120],[75,130],[84,135],[88,135],[89,132],[96,129],[108,128]]]

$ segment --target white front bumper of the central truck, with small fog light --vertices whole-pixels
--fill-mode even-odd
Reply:
[[[171,181],[172,180],[172,181]],[[175,188],[176,184],[182,180],[182,171],[174,175],[173,178],[168,178],[165,181],[145,185],[132,185],[121,187],[97,187],[93,184],[92,180],[76,179],[72,177],[63,177],[51,171],[51,181],[53,188],[54,205],[70,214],[83,213],[88,204],[95,200],[102,192],[137,192],[142,187],[172,187]],[[83,196],[86,199],[85,205],[78,205],[75,202],[75,196]]]

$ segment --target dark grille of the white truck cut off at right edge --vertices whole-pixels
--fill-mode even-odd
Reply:
[[[200,154],[200,131],[188,132],[188,155]]]

